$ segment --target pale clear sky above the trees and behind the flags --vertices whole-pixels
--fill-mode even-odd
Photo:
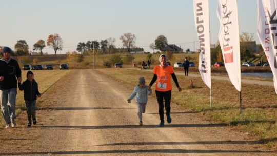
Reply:
[[[29,51],[40,39],[47,41],[50,34],[58,33],[63,40],[62,54],[76,50],[79,42],[119,39],[124,33],[136,35],[136,47],[149,48],[159,35],[167,37],[168,44],[193,51],[199,47],[193,17],[192,0],[1,0],[0,45],[14,49],[18,40],[25,40]],[[210,0],[211,44],[217,42],[219,21],[216,16],[217,0]],[[254,0],[239,0],[239,29],[256,35],[257,4]],[[54,54],[46,47],[43,52]],[[57,52],[60,54],[60,52]]]

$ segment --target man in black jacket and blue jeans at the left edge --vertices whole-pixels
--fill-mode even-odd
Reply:
[[[0,103],[6,128],[16,127],[15,102],[17,80],[21,81],[21,69],[18,62],[11,58],[11,48],[4,47],[0,60]]]

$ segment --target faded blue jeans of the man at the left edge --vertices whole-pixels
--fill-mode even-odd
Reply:
[[[16,100],[17,89],[5,89],[0,90],[0,103],[1,111],[5,122],[8,124],[11,119],[15,119],[15,100]]]

